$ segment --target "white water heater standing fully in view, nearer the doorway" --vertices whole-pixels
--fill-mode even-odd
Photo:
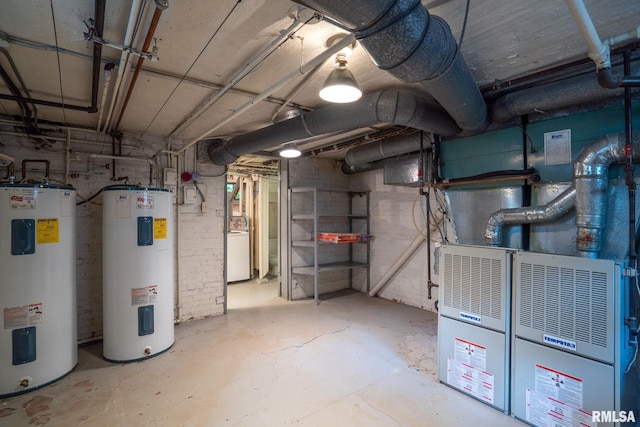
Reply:
[[[172,194],[113,186],[102,200],[103,355],[155,356],[174,342]]]

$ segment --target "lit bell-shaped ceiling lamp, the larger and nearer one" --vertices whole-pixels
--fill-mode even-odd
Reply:
[[[336,35],[326,42],[327,47],[331,47],[341,37]],[[362,91],[358,87],[355,77],[351,71],[347,70],[347,57],[351,54],[355,43],[347,46],[336,54],[336,65],[327,77],[327,81],[320,90],[320,98],[328,102],[347,103],[360,99]]]

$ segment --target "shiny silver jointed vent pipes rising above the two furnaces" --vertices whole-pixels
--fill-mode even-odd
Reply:
[[[544,206],[502,209],[491,215],[485,241],[502,244],[502,228],[507,224],[545,223],[576,210],[578,254],[597,258],[602,246],[602,231],[607,220],[609,166],[627,159],[625,133],[606,135],[584,147],[573,163],[573,185]],[[633,152],[640,153],[640,132],[633,134]],[[634,155],[640,160],[640,154]]]

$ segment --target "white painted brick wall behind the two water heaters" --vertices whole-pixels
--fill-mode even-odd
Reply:
[[[20,178],[20,165],[24,159],[46,159],[51,162],[50,178],[52,183],[65,180],[65,147],[59,142],[51,148],[35,150],[33,144],[23,138],[2,136],[0,151],[16,159],[17,176]],[[103,137],[101,137],[103,138]],[[103,138],[104,139],[104,138]],[[125,154],[150,158],[154,153],[150,148],[132,148],[134,140],[124,140]],[[149,164],[145,162],[118,161],[115,173],[111,160],[91,157],[86,152],[111,153],[110,138],[101,141],[88,137],[85,145],[74,142],[70,156],[72,185],[78,194],[78,203],[88,199],[112,181],[112,176],[128,177],[132,185],[149,186]],[[193,156],[183,162],[194,164]],[[160,159],[168,166],[166,157]],[[176,167],[175,164],[170,165]],[[180,227],[177,211],[174,215],[176,227],[176,320],[203,318],[223,313],[224,307],[224,191],[223,177],[214,176],[218,171],[207,170],[209,165],[198,164],[202,175],[201,188],[207,199],[206,212],[201,211],[200,196],[198,203],[181,206]],[[27,172],[27,177],[41,178],[43,170],[37,163]],[[184,168],[184,167],[183,167]],[[195,168],[192,167],[191,171]],[[31,169],[28,165],[27,169]],[[162,168],[160,168],[162,169]],[[159,187],[154,168],[152,187]],[[0,171],[4,177],[5,170]],[[160,175],[158,175],[160,176]],[[120,181],[122,183],[123,181]],[[102,335],[102,196],[98,195],[91,203],[79,204],[76,208],[76,279],[78,307],[78,339],[89,340]],[[178,230],[179,228],[179,230]],[[179,233],[178,233],[179,231]],[[178,246],[180,250],[178,250]],[[179,278],[179,280],[178,280]]]

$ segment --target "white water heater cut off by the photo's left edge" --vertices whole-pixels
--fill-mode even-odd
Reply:
[[[0,397],[77,364],[76,191],[0,183]]]

